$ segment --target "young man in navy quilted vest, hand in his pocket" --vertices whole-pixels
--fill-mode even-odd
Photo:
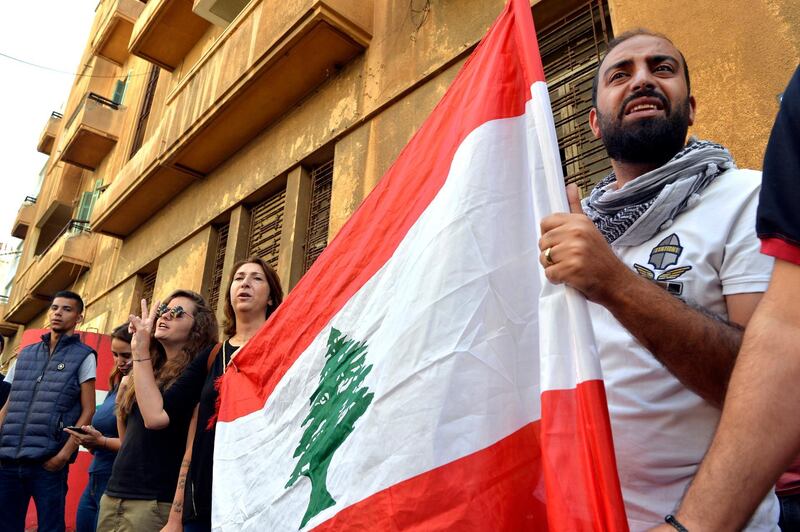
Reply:
[[[64,427],[91,423],[96,354],[75,326],[83,300],[58,292],[50,304],[50,332],[23,349],[6,380],[0,410],[0,530],[22,532],[33,497],[41,532],[63,531],[68,464],[78,446]]]

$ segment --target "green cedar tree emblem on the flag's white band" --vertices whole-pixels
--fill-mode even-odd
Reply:
[[[365,342],[350,340],[340,331],[331,329],[325,366],[309,400],[311,411],[303,420],[302,426],[307,427],[294,451],[294,458],[299,457],[299,460],[285,486],[293,486],[300,476],[311,481],[311,499],[300,528],[336,504],[326,486],[328,466],[333,453],[353,432],[356,420],[366,412],[375,396],[361,385],[372,370],[372,364],[365,365],[366,351]]]

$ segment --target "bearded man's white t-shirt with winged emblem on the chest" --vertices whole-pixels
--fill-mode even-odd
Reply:
[[[755,234],[760,172],[729,170],[672,225],[640,246],[613,246],[631,269],[727,318],[725,296],[764,292],[773,260]],[[604,307],[590,303],[617,467],[632,531],[664,522],[708,450],[720,410],[683,386]],[[664,330],[680,336],[681,331]],[[696,356],[687,345],[687,357]],[[774,495],[748,530],[777,530]]]

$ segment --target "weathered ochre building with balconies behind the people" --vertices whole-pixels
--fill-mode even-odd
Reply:
[[[61,289],[83,295],[83,328],[99,332],[178,287],[218,306],[250,254],[291,288],[504,3],[101,0],[63,116],[42,117],[36,148],[50,158],[14,225],[24,246],[0,333],[13,346],[46,327]],[[568,181],[608,169],[587,126],[592,76],[608,40],[636,26],[685,53],[693,132],[760,167],[800,61],[795,0],[531,4]]]

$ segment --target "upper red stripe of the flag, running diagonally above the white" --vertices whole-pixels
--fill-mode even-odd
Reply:
[[[544,75],[530,7],[521,5],[509,2],[375,190],[236,357],[238,371],[223,380],[220,421],[264,406],[322,328],[392,256],[441,189],[465,137],[490,120],[523,114],[531,85]]]

